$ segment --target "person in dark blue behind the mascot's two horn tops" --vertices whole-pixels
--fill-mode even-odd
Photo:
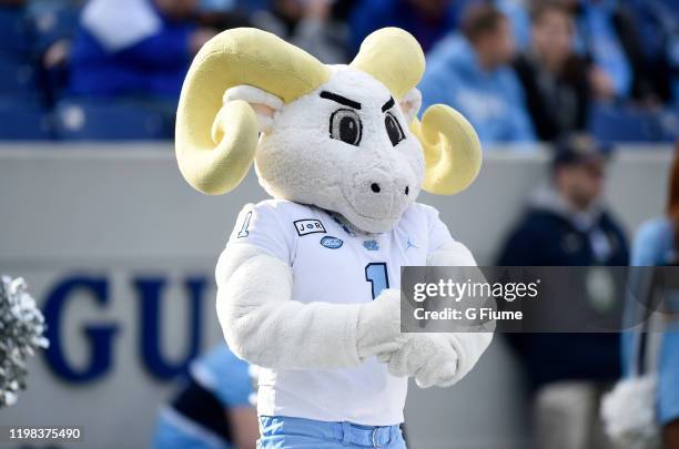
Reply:
[[[398,27],[417,39],[428,51],[436,41],[457,27],[463,0],[361,0],[349,17],[352,51],[373,31]]]

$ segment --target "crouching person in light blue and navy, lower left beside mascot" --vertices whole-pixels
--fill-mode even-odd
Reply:
[[[259,437],[247,364],[221,344],[191,365],[172,402],[162,408],[153,449],[252,449]]]

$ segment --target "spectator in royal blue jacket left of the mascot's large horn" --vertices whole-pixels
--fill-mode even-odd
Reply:
[[[214,30],[192,21],[199,0],[92,0],[71,55],[73,94],[176,101],[191,58]]]

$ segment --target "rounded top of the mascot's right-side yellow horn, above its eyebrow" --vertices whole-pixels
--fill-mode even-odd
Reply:
[[[401,100],[422,79],[425,58],[408,32],[383,28],[365,38],[351,65],[373,75]]]

